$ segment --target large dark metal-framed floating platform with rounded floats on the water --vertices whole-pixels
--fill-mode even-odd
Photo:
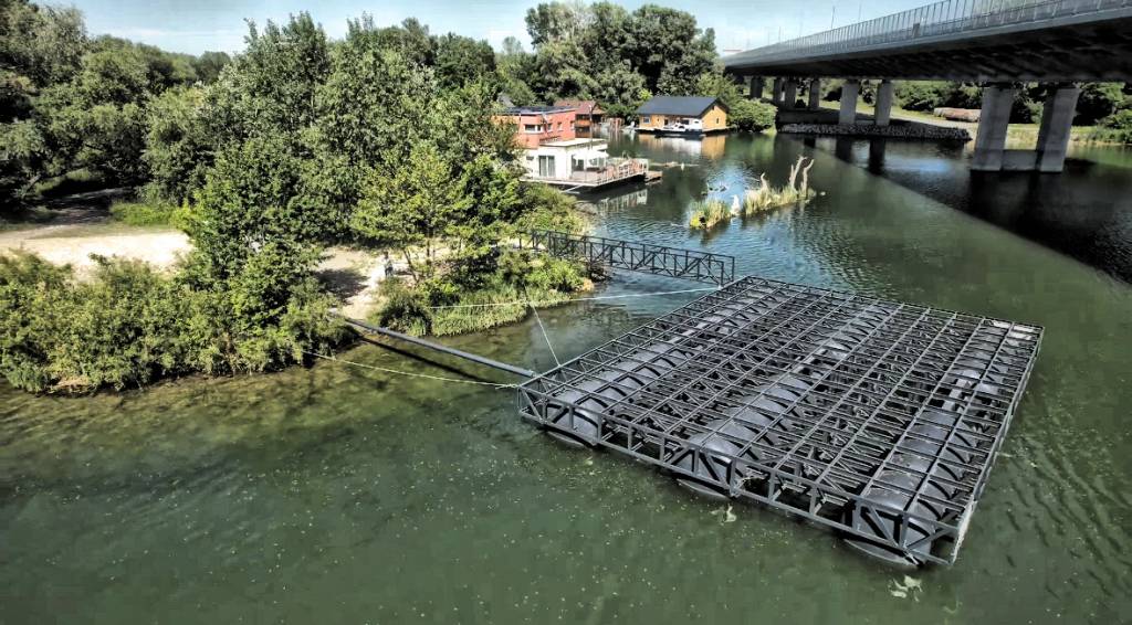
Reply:
[[[1040,339],[747,277],[528,381],[520,411],[872,555],[950,564]]]

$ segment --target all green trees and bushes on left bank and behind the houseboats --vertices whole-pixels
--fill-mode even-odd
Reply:
[[[316,274],[329,245],[404,262],[379,316],[414,331],[505,323],[526,307],[465,304],[552,304],[591,284],[580,264],[500,251],[516,228],[576,232],[584,222],[560,193],[521,181],[512,129],[492,121],[514,77],[506,53],[497,59],[484,42],[366,16],[332,41],[300,14],[250,25],[232,59],[192,58],[91,38],[70,9],[17,0],[0,12],[5,79],[15,85],[0,120],[5,216],[33,205],[45,181],[70,184],[82,172],[136,190],[115,218],[172,223],[191,243],[172,274],[97,259],[79,277],[5,257],[0,372],[19,388],[122,389],[325,351],[346,338]],[[641,57],[626,72],[674,89],[721,76],[710,32],[691,16],[638,12],[638,50],[697,43],[663,62]],[[547,24],[546,45],[566,45]],[[544,99],[582,93],[563,85],[534,88]]]

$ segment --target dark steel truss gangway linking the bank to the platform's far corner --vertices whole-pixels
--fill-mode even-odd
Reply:
[[[521,233],[516,246],[657,276],[723,286],[735,280],[735,257],[556,231]]]

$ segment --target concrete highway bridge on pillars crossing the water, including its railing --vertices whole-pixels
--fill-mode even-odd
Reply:
[[[816,110],[822,78],[843,78],[839,123],[856,123],[861,80],[880,80],[874,123],[887,125],[892,80],[984,85],[972,168],[1060,172],[1082,81],[1132,80],[1132,0],[945,0],[723,59],[762,97]],[[1007,150],[1019,83],[1048,84],[1036,150]]]

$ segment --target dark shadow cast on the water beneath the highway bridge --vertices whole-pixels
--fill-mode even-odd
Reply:
[[[963,144],[779,136],[1132,283],[1132,150],[1071,148],[1061,174],[971,172]]]

